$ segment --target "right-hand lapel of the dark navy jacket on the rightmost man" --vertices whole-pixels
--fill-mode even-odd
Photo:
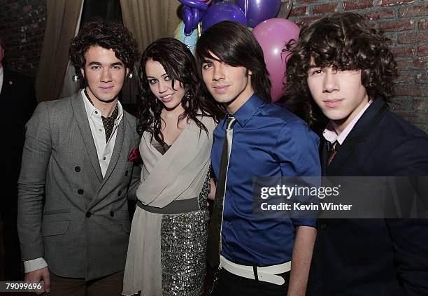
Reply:
[[[363,142],[378,124],[380,118],[388,110],[388,105],[382,98],[375,99],[367,108],[366,112],[359,118],[357,124],[352,128],[350,134],[342,143],[341,148],[334,155],[329,166],[326,167],[327,176],[338,176],[345,164],[357,154],[357,145]],[[327,150],[324,151],[327,157]],[[325,162],[323,162],[325,164]]]

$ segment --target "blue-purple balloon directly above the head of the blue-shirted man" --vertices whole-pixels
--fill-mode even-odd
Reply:
[[[222,20],[240,22],[247,27],[247,20],[241,8],[234,3],[217,2],[211,5],[210,9],[208,9],[208,13],[204,16],[204,20],[202,20],[202,29],[205,31],[213,24],[217,24],[217,22],[221,22]]]

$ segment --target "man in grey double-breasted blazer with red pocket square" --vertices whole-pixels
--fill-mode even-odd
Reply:
[[[27,123],[17,220],[25,280],[43,280],[50,295],[120,295],[127,197],[140,174],[129,159],[136,118],[117,97],[136,41],[122,24],[88,22],[69,55],[85,88],[39,104]]]

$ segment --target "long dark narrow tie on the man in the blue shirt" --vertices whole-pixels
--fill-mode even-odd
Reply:
[[[220,159],[220,172],[215,189],[215,199],[213,206],[213,214],[211,216],[210,227],[208,230],[208,243],[206,246],[206,260],[211,267],[217,267],[220,264],[220,250],[222,247],[222,222],[223,222],[223,206],[224,194],[226,193],[227,168],[229,167],[229,157],[232,146],[232,137],[234,134],[233,126],[235,123],[234,117],[227,118],[226,134],[222,148],[222,157]]]

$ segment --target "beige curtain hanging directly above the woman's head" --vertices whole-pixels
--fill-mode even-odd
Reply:
[[[138,41],[138,50],[158,38],[173,37],[181,21],[178,0],[120,0],[124,25]]]

